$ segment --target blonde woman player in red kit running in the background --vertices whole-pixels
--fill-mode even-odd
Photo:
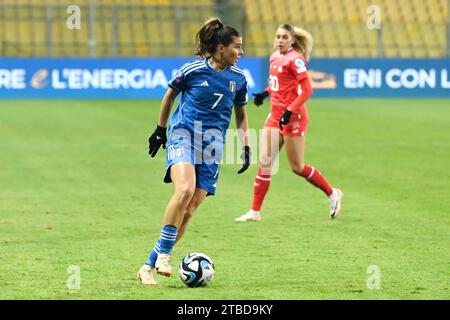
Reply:
[[[269,190],[272,166],[283,145],[292,171],[328,196],[330,217],[334,219],[341,210],[343,193],[331,187],[320,171],[306,164],[304,159],[308,127],[305,102],[313,92],[306,71],[306,61],[312,50],[313,38],[303,29],[283,24],[276,31],[274,45],[274,52],[270,57],[269,86],[263,92],[254,94],[257,106],[270,95],[271,108],[262,133],[262,150],[253,189],[252,209],[235,221],[261,219],[261,205]]]

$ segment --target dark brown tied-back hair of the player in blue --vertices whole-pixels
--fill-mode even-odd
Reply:
[[[197,32],[195,54],[207,58],[214,54],[218,45],[227,46],[233,41],[233,37],[240,36],[236,29],[224,25],[219,18],[210,18]]]

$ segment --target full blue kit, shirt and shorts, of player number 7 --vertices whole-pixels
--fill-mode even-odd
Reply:
[[[169,86],[182,94],[169,123],[164,181],[172,181],[174,164],[191,163],[196,187],[213,195],[233,106],[247,104],[245,75],[235,66],[218,72],[207,59],[195,60],[183,65]]]

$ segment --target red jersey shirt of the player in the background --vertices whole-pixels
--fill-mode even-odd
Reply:
[[[301,93],[300,81],[308,77],[305,58],[290,48],[286,54],[274,52],[270,57],[269,86],[271,115],[280,119],[287,107]],[[306,108],[305,104],[301,109]]]

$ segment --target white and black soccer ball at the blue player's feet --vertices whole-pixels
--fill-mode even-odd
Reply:
[[[198,252],[186,255],[178,267],[181,281],[192,288],[204,287],[211,283],[215,271],[211,258]]]

